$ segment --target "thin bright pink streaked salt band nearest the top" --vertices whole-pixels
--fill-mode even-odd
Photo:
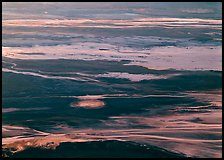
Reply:
[[[90,25],[92,23],[92,25]],[[127,25],[128,24],[128,25]],[[32,26],[32,27],[91,27],[91,28],[133,28],[133,27],[217,27],[221,20],[196,18],[139,18],[133,20],[4,20],[4,26]]]

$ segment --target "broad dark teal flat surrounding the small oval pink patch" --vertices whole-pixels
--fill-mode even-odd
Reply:
[[[128,72],[132,74],[150,73],[164,75],[180,73],[179,76],[168,79],[144,80],[131,82],[127,79],[93,78],[99,82],[81,82],[73,80],[46,79],[31,75],[3,72],[3,108],[18,108],[15,112],[3,114],[4,122],[14,125],[25,125],[35,129],[49,128],[49,125],[65,123],[71,126],[90,126],[99,123],[101,119],[122,114],[142,114],[150,109],[151,116],[155,116],[154,110],[162,110],[158,114],[168,113],[167,110],[176,106],[206,106],[205,102],[189,97],[168,97],[169,95],[182,95],[187,91],[206,91],[222,88],[221,71],[177,71],[177,70],[147,70],[139,66],[125,66],[126,62],[112,61],[81,61],[81,60],[13,60],[3,57],[4,61],[16,63],[14,70],[32,69],[33,73],[41,71],[46,76],[62,76],[58,72],[80,72],[89,74],[102,74],[107,71]],[[11,64],[10,64],[11,65]],[[10,69],[8,63],[3,67]],[[104,67],[100,67],[103,65]],[[65,67],[66,66],[66,67]],[[18,67],[18,69],[17,69]],[[51,73],[51,74],[50,74]],[[80,75],[66,75],[82,78]],[[65,89],[66,88],[66,89]],[[84,108],[72,108],[71,103],[77,103],[78,99],[69,96],[103,95],[125,93],[129,98],[104,99],[105,106],[97,110]],[[133,94],[160,95],[167,97],[134,98]],[[56,97],[54,97],[56,96]],[[65,96],[65,97],[60,97]],[[68,97],[66,97],[68,96]],[[42,108],[48,107],[48,110]],[[24,109],[39,108],[40,110],[28,111]],[[148,114],[148,113],[147,113]],[[66,115],[64,117],[63,115]],[[60,117],[60,118],[59,118]],[[74,118],[75,117],[75,118]],[[81,118],[81,119],[80,119]],[[93,118],[93,119],[92,119]],[[33,121],[26,121],[31,119]],[[88,122],[87,124],[83,123]],[[40,125],[41,123],[41,125]],[[85,125],[83,125],[85,124]],[[37,127],[37,128],[36,128]],[[44,127],[45,128],[45,127]]]

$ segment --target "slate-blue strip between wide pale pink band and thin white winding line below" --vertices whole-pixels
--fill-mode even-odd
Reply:
[[[91,74],[107,72],[128,72],[128,73],[150,73],[150,71],[140,66],[126,66],[130,61],[106,61],[106,60],[21,60],[3,57],[4,61],[16,63],[19,68],[32,68],[43,72],[83,72]],[[3,63],[3,67],[7,65]],[[65,67],[66,66],[66,67]]]

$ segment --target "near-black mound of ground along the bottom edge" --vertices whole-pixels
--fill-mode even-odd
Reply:
[[[4,151],[3,155],[10,155]],[[10,155],[11,158],[184,158],[178,153],[169,152],[149,145],[122,141],[92,141],[62,143],[55,150],[28,148]]]

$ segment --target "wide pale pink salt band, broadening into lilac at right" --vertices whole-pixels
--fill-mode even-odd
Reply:
[[[222,70],[221,46],[194,47],[156,47],[151,50],[139,51],[130,48],[131,52],[120,53],[110,46],[110,50],[91,49],[88,43],[73,46],[38,46],[32,48],[3,47],[3,56],[17,59],[76,59],[76,60],[130,60],[127,65],[138,65],[149,69],[164,70]],[[93,45],[93,44],[91,44]],[[103,46],[103,44],[94,44]],[[109,46],[107,46],[109,47]],[[114,46],[115,47],[115,46]],[[24,53],[45,53],[27,55]],[[20,54],[18,54],[20,53]]]

